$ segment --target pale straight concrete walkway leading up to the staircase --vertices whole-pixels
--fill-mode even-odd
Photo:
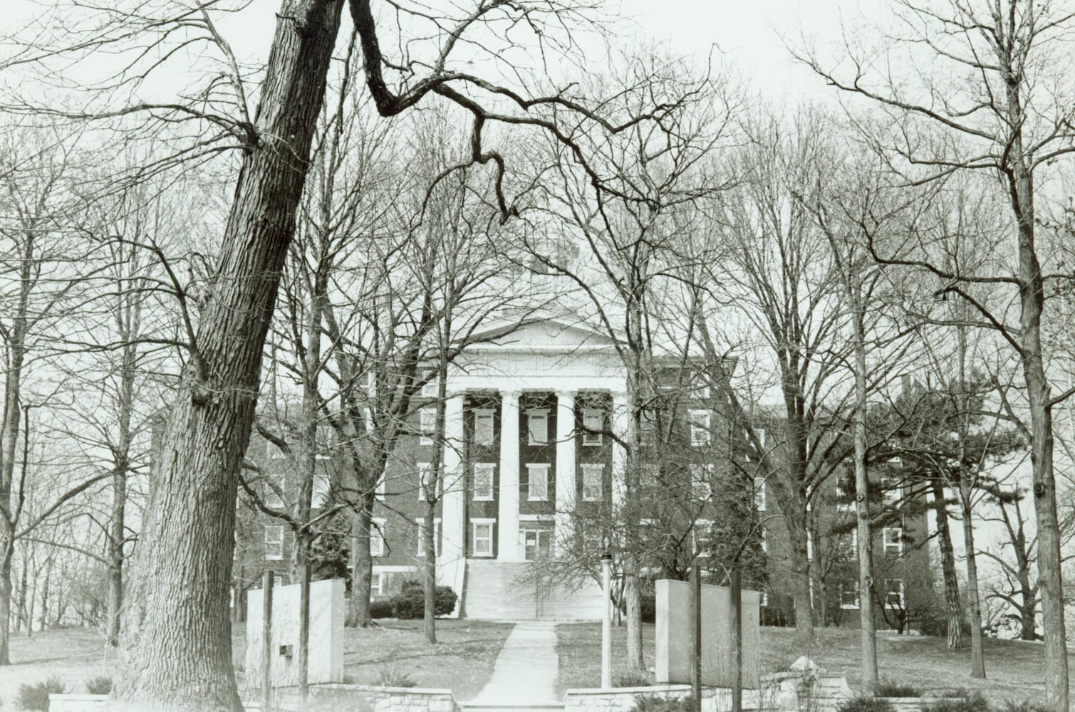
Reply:
[[[556,678],[560,656],[556,652],[556,624],[516,624],[500,649],[492,677],[478,696],[464,706],[559,704]]]

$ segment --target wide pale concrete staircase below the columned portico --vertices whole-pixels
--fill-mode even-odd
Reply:
[[[539,583],[531,562],[467,561],[463,615],[489,621],[600,621],[601,587]]]

